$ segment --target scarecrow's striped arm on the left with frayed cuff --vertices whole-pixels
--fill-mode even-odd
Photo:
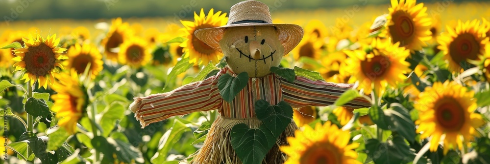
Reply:
[[[217,83],[218,75],[181,86],[171,92],[135,97],[129,108],[136,113],[135,117],[142,127],[172,116],[217,109],[221,106]]]

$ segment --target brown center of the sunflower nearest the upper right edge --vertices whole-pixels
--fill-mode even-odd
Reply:
[[[454,62],[460,63],[466,59],[477,60],[480,44],[471,34],[460,34],[449,44],[449,55]]]

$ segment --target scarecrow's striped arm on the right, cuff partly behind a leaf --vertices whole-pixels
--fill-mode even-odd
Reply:
[[[339,99],[342,93],[354,84],[312,81],[305,77],[296,76],[293,83],[281,78],[283,98],[292,107],[328,106]],[[369,107],[371,104],[362,98],[357,98],[343,105],[348,108]]]

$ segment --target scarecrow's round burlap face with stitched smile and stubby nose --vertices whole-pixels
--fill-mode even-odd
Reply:
[[[228,27],[220,46],[233,72],[247,72],[254,78],[270,74],[270,67],[279,66],[284,55],[272,26]]]

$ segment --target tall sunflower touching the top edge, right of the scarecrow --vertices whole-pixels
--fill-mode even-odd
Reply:
[[[425,41],[431,39],[431,19],[427,16],[427,7],[416,0],[391,0],[388,10],[387,32],[393,43],[400,42],[411,51],[421,50]]]

